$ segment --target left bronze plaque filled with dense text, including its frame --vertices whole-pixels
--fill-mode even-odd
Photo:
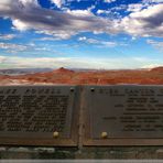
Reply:
[[[76,86],[1,86],[0,144],[77,145]]]

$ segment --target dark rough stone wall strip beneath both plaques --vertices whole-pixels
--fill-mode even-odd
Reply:
[[[0,146],[0,159],[163,159],[163,146],[26,148]]]

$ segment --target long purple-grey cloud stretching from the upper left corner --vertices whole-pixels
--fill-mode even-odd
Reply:
[[[58,12],[42,8],[36,0],[0,1],[0,15],[10,18],[17,30],[35,30],[61,39],[79,32],[109,33],[113,29],[109,20],[97,18],[90,11]]]

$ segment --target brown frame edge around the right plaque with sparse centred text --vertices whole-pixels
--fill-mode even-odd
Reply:
[[[163,85],[105,85],[105,86],[86,86],[83,97],[83,112],[84,112],[84,129],[83,129],[83,145],[84,146],[150,146],[150,145],[163,145],[163,138],[106,138],[106,139],[91,139],[90,137],[90,101],[89,93],[91,88],[106,87],[106,86],[150,86],[150,87],[163,87]]]

